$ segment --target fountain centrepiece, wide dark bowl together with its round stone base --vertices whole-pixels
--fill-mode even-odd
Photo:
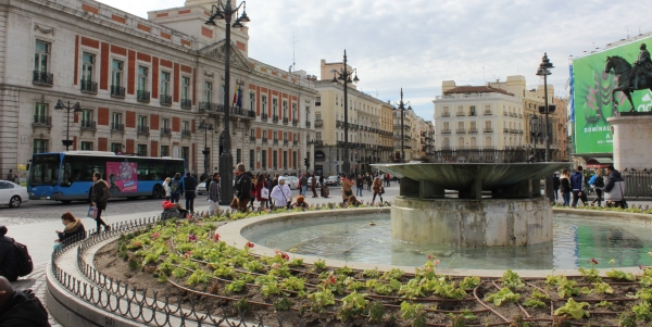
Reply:
[[[525,247],[552,240],[541,177],[567,163],[375,164],[400,178],[391,235],[413,243]],[[457,191],[457,198],[446,197]]]

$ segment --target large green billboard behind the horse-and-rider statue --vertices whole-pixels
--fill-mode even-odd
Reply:
[[[617,85],[614,74],[605,74],[606,58],[619,55],[634,64],[640,52],[639,46],[652,47],[652,37],[632,41],[599,53],[573,60],[572,89],[575,120],[575,152],[577,154],[613,152],[613,135],[606,118],[614,115],[612,90]],[[613,73],[613,72],[612,72]],[[629,111],[629,101],[623,92],[616,92],[617,111]],[[639,90],[631,95],[636,111],[652,109],[652,92]]]

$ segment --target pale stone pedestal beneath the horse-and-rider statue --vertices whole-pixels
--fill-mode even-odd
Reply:
[[[614,167],[620,172],[652,167],[652,113],[620,113],[606,121],[614,134]]]

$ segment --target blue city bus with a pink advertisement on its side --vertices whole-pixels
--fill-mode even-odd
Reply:
[[[111,187],[111,198],[161,198],[165,178],[185,171],[183,159],[103,151],[35,153],[29,165],[27,192],[30,200],[89,201],[92,174],[100,172]]]

